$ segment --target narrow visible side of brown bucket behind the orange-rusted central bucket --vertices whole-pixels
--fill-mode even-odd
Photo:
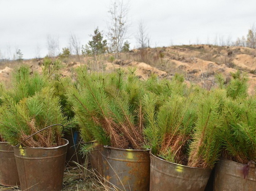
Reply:
[[[96,141],[92,141],[94,146],[93,151],[90,152],[89,161],[92,165],[93,172],[102,181],[103,175],[103,145],[98,145]]]

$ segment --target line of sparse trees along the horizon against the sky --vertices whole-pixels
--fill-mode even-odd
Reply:
[[[98,54],[105,53],[113,53],[115,58],[119,57],[120,52],[129,52],[130,50],[130,42],[127,40],[128,28],[130,27],[128,21],[128,11],[129,4],[125,4],[122,0],[116,0],[110,3],[110,8],[108,10],[110,19],[107,22],[107,31],[104,36],[104,31],[101,31],[97,26],[93,34],[89,35],[92,39],[88,41],[85,45],[81,45],[80,40],[74,33],[70,33],[69,36],[69,44],[66,47],[62,47],[60,51],[59,48],[59,40],[58,38],[54,38],[51,35],[47,36],[47,49],[48,49],[48,57],[68,57],[69,55],[91,55],[95,56]],[[146,30],[145,23],[141,20],[138,25],[138,31],[135,36],[137,45],[139,49],[144,49],[146,47],[150,47],[150,37]],[[190,43],[189,43],[190,44]],[[197,39],[196,44],[199,43],[199,39]],[[236,41],[231,41],[231,38],[224,40],[223,37],[216,36],[213,43],[210,43],[209,39],[207,39],[206,44],[213,45],[233,45],[233,46],[244,46],[255,49],[256,46],[256,27],[253,25],[250,29],[248,29],[248,33],[241,38],[237,38]],[[11,48],[8,45],[7,47],[8,56],[5,57],[4,54],[1,53],[0,50],[0,61],[1,60],[23,60],[23,53],[21,49],[16,47],[15,53],[12,55]],[[35,58],[41,58],[40,55],[40,47],[37,44],[35,48]]]

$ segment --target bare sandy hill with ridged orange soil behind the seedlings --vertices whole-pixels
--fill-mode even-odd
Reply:
[[[10,85],[11,71],[16,65],[29,64],[32,70],[40,72],[43,59],[23,60],[23,62],[0,63],[0,80]],[[214,75],[223,73],[226,81],[232,78],[231,73],[240,70],[249,77],[249,93],[253,94],[256,86],[256,50],[238,46],[214,45],[181,45],[144,50],[132,50],[121,53],[120,59],[113,55],[104,55],[98,58],[97,64],[90,62],[90,57],[70,56],[62,59],[64,68],[62,75],[71,75],[72,69],[80,64],[90,64],[94,70],[100,70],[102,65],[107,71],[115,68],[137,67],[137,73],[142,79],[156,73],[161,78],[172,78],[175,73],[183,74],[187,83],[197,83],[207,89],[216,85]]]

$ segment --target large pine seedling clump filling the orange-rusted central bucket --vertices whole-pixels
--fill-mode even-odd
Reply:
[[[143,92],[134,73],[131,69],[125,80],[122,69],[112,74],[88,73],[84,66],[78,69],[79,91],[73,89],[69,98],[85,141],[96,139],[117,148],[142,147],[139,97]]]

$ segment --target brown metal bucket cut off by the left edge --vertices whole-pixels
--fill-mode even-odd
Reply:
[[[0,185],[7,187],[20,185],[14,151],[7,142],[0,142]]]

